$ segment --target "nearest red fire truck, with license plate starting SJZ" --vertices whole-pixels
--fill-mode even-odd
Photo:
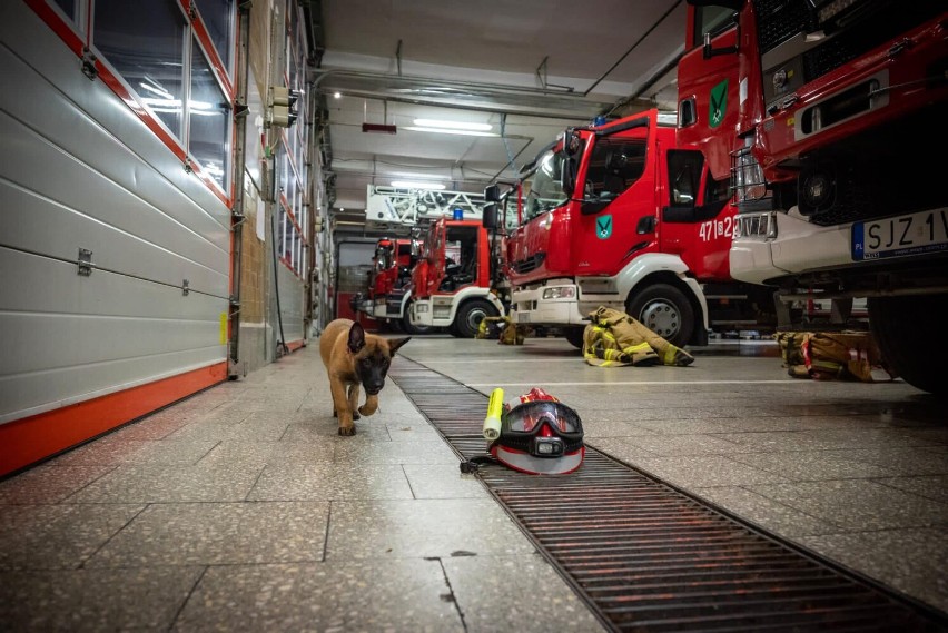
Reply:
[[[948,116],[944,4],[689,2],[682,65],[695,77],[738,70],[737,86],[715,92],[737,106],[734,125],[719,129],[732,144],[739,209],[732,274],[774,287],[778,307],[816,297],[845,315],[867,297],[890,367],[946,393],[948,188],[938,186],[936,141]],[[708,127],[710,100],[707,110],[685,96],[681,125]],[[797,326],[792,311],[779,313],[781,328]]]

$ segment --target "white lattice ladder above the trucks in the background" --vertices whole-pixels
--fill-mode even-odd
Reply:
[[[407,235],[413,227],[441,217],[453,217],[455,209],[461,209],[465,220],[480,220],[483,206],[483,194],[368,185],[365,225],[367,228]]]

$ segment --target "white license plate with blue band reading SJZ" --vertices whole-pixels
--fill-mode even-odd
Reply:
[[[948,209],[852,225],[852,259],[881,259],[948,250]]]

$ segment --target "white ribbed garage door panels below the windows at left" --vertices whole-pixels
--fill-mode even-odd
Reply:
[[[0,423],[225,362],[226,204],[23,2],[0,42]]]

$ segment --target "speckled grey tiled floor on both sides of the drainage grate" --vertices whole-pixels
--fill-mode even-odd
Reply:
[[[401,353],[542,386],[587,445],[948,611],[948,416],[906,384],[592,367],[553,338]],[[310,345],[0,482],[0,630],[601,630],[397,385],[379,402],[339,437]]]

